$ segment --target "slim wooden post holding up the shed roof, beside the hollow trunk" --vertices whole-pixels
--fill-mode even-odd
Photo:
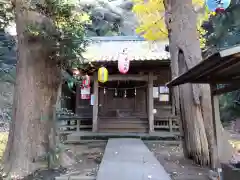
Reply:
[[[211,86],[211,92],[212,92],[213,86]],[[211,95],[212,98],[212,113],[213,113],[213,129],[214,129],[214,139],[215,139],[215,144],[213,147],[213,154],[211,156],[211,166],[213,169],[219,168],[220,167],[220,162],[219,162],[219,138],[221,137],[221,132],[219,131],[221,125],[220,121],[220,111],[219,111],[219,99],[218,96],[216,95]]]

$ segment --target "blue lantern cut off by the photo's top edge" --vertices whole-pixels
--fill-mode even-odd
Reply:
[[[206,0],[208,9],[212,12],[223,12],[230,6],[231,0]]]

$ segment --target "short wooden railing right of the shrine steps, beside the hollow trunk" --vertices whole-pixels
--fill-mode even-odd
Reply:
[[[179,131],[179,118],[177,116],[154,117],[154,131]]]

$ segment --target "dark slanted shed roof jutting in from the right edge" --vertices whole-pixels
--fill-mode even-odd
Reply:
[[[211,55],[187,72],[174,78],[167,86],[177,86],[184,83],[227,85],[222,90],[216,90],[215,94],[239,89],[240,46],[228,48]]]

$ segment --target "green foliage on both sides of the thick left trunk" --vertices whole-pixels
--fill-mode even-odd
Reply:
[[[10,1],[1,0],[0,5],[0,31],[5,34],[4,40],[0,38],[0,80],[14,83],[15,64],[9,64],[9,51],[15,47],[13,38],[6,37],[4,28],[14,22],[14,6]],[[86,69],[88,64],[84,63],[82,52],[85,51],[87,41],[85,40],[85,27],[91,25],[89,16],[65,0],[45,0],[45,3],[33,2],[27,9],[36,12],[44,18],[44,23],[35,22],[26,27],[30,41],[44,41],[48,49],[52,50],[49,59],[57,60],[57,65],[62,69],[79,68]],[[0,34],[1,35],[1,34]],[[4,36],[4,35],[3,35]],[[16,61],[16,58],[15,58]],[[66,73],[65,73],[66,74]],[[72,88],[74,83],[81,83],[80,79],[65,77]]]

